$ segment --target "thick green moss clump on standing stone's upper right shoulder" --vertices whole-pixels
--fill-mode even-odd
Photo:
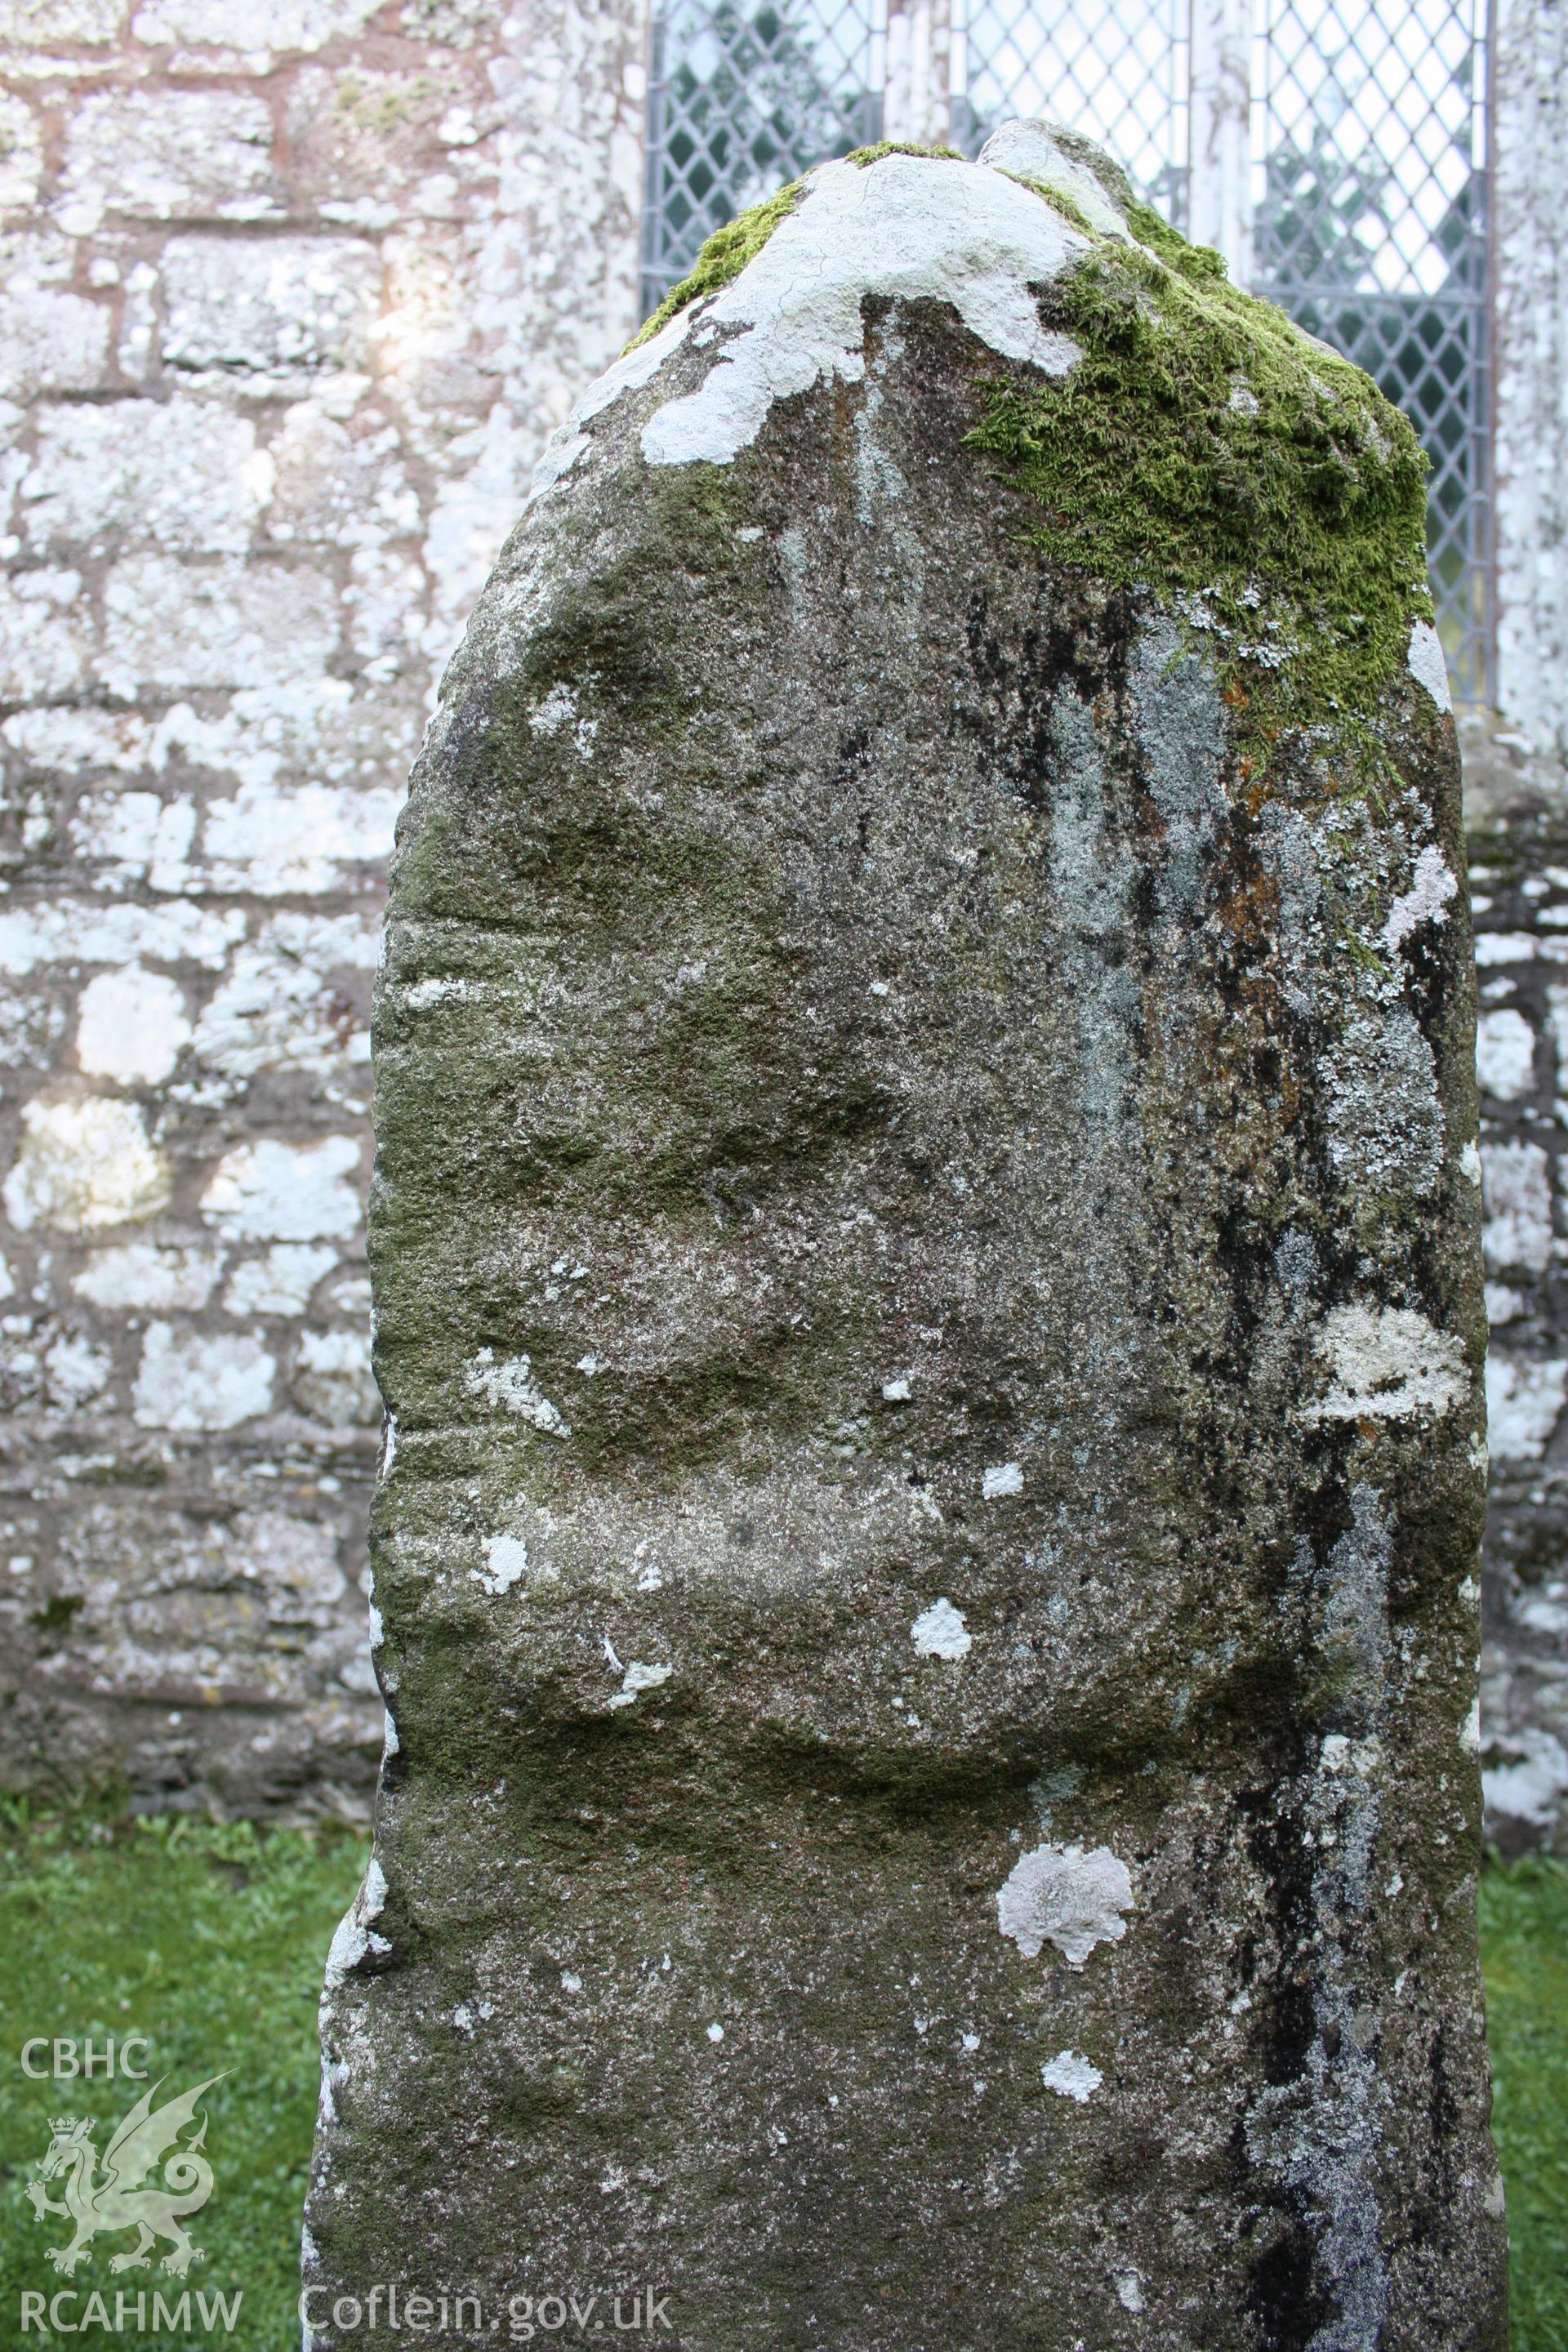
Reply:
[[[1053,289],[1081,362],[992,379],[969,445],[1041,508],[1046,555],[1211,635],[1248,748],[1354,739],[1432,616],[1415,430],[1218,254],[1143,205],[1128,221],[1152,249],[1100,240]]]

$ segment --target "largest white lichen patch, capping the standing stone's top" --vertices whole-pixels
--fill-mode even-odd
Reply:
[[[1034,289],[1086,245],[1004,172],[914,155],[884,155],[867,169],[820,165],[733,285],[670,322],[684,322],[698,346],[738,332],[696,393],[649,416],[642,454],[651,466],[726,466],[757,440],[776,400],[832,379],[858,383],[867,294],[952,303],[1004,360],[1065,376],[1079,348],[1039,325]]]

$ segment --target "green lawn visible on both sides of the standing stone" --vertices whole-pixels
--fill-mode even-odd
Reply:
[[[186,2281],[160,2270],[108,2279],[103,2260],[78,2274],[87,2293],[193,2291],[186,2333],[132,2336],[148,2352],[226,2345],[296,2352],[299,2209],[315,2114],[315,1994],[322,1957],[364,1870],[364,1839],[348,1830],[277,1830],[240,1823],[33,1820],[9,1809],[0,1825],[0,1952],[5,2049],[31,2034],[146,2034],[148,2074],[167,2093],[226,2072],[205,2098],[216,2187],[193,2220],[207,2260]],[[1481,1889],[1481,1947],[1497,2074],[1497,2147],[1514,2232],[1512,2352],[1568,2352],[1568,1872],[1556,1863],[1493,1865]],[[33,2063],[47,2063],[33,2053]],[[113,2126],[136,2082],[31,2082],[12,2056],[0,2067],[0,2340],[63,2345],[45,2328],[12,2328],[21,2293],[63,2281],[45,2246],[66,2239],[56,2216],[38,2220],[24,2185],[49,2143],[54,2112]],[[108,2131],[99,2131],[99,2147]],[[59,2187],[52,2187],[59,2194]],[[129,2239],[118,2237],[115,2249]],[[233,2331],[200,2324],[195,2296],[240,2296]],[[230,2303],[233,2307],[233,2303]],[[209,2305],[212,2310],[212,2305]],[[89,2343],[127,2340],[87,2326]]]

